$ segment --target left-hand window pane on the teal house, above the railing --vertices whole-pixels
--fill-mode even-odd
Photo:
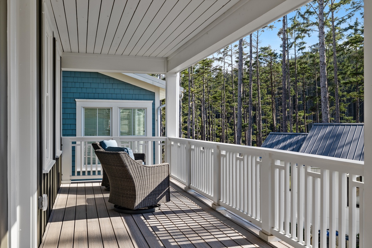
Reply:
[[[110,136],[111,109],[84,108],[84,136]]]

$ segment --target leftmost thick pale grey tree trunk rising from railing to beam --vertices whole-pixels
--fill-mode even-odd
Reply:
[[[241,129],[243,126],[242,113],[243,113],[243,39],[239,40],[238,48],[238,121],[237,121],[237,137],[236,144],[241,144]]]

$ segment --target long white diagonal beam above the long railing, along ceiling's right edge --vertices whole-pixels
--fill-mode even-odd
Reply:
[[[239,1],[189,42],[169,55],[168,72],[182,71],[308,2],[310,0]]]

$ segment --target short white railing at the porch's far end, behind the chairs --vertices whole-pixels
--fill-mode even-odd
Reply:
[[[104,139],[115,139],[119,146],[129,147],[134,153],[145,153],[146,164],[163,162],[166,137],[62,137],[62,183],[102,178],[101,165],[91,144]]]

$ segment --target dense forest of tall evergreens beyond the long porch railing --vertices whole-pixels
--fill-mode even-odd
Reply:
[[[280,51],[260,45],[274,25]],[[363,122],[363,1],[315,0],[274,25],[181,72],[180,137],[260,146],[270,132]]]

